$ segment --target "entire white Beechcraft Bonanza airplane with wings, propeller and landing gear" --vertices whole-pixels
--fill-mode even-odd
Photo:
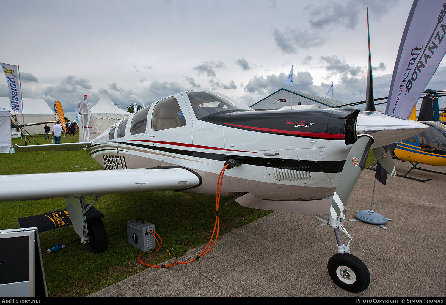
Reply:
[[[65,198],[74,231],[96,253],[106,250],[107,233],[100,218],[86,219],[87,196],[160,190],[212,195],[220,170],[229,164],[223,196],[250,208],[312,214],[332,227],[338,253],[328,262],[330,277],[343,289],[363,291],[370,273],[339,233],[351,240],[343,226],[344,206],[371,148],[394,176],[386,145],[427,129],[376,112],[370,66],[369,48],[366,111],[253,111],[218,93],[186,91],[136,111],[99,136],[83,124],[81,132],[91,142],[16,147],[17,152],[84,148],[107,171],[0,176],[0,200]],[[87,112],[82,111],[83,122],[91,121],[89,107],[80,108]],[[70,185],[63,182],[67,179]],[[14,187],[19,181],[27,185],[21,192]]]

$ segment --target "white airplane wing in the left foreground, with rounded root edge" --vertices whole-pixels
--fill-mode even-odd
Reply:
[[[115,169],[0,176],[0,201],[185,190],[201,177],[184,168]]]

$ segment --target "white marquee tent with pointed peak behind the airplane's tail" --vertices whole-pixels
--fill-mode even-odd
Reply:
[[[98,103],[90,109],[96,127],[104,131],[117,121],[127,117],[131,113],[115,106],[108,95],[107,90],[102,91],[102,96]]]

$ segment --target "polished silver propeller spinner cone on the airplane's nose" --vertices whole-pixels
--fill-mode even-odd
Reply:
[[[429,126],[414,120],[402,119],[379,112],[359,112],[356,136],[368,134],[375,139],[372,148],[396,143],[416,135]]]

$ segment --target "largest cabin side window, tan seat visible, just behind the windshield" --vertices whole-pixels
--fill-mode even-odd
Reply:
[[[152,129],[163,130],[186,125],[186,119],[177,99],[171,96],[159,101],[153,109]]]

